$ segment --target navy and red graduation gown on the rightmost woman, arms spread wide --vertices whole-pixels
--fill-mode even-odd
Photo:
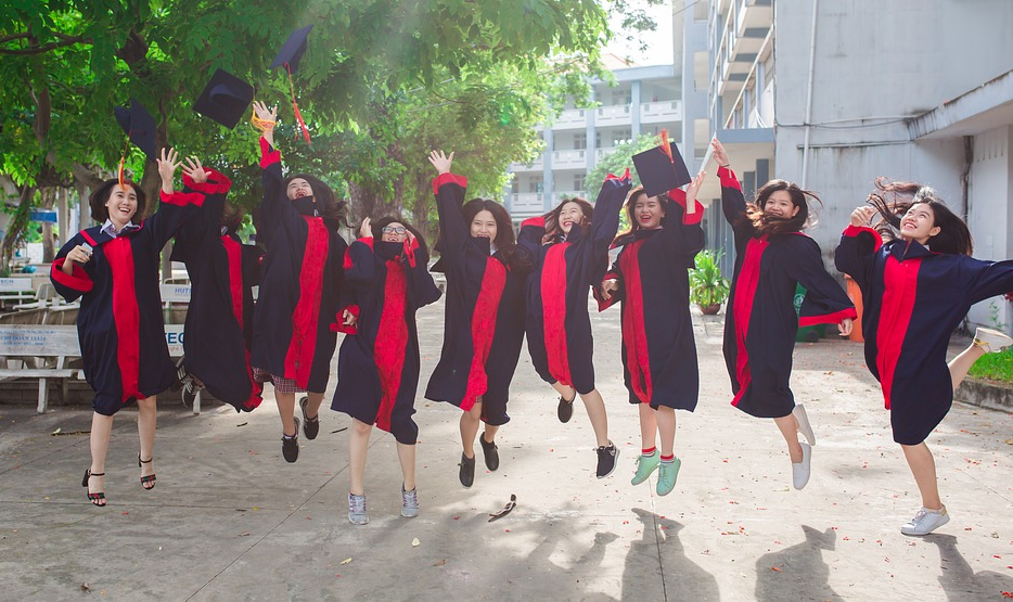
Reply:
[[[1013,261],[933,253],[918,242],[883,244],[848,226],[834,253],[862,292],[865,366],[880,381],[894,440],[918,445],[950,410],[950,334],[971,306],[1013,290]]]

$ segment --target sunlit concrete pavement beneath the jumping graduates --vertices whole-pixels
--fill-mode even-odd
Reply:
[[[424,377],[441,316],[441,305],[420,315]],[[209,406],[200,417],[164,404],[158,485],[144,491],[125,411],[107,462],[110,504],[97,509],[78,485],[90,410],[0,406],[2,598],[1002,600],[1013,591],[1013,415],[954,406],[929,439],[952,521],[908,538],[899,526],[919,497],[861,346],[797,348],[793,388],[819,445],[809,486],[795,491],[773,423],[728,404],[720,317],[695,325],[701,405],[679,414],[682,472],[664,498],[653,478],[629,484],[640,441],[617,310],[594,321],[599,388],[621,449],[616,473],[594,478],[586,413],[578,404],[560,424],[551,389],[523,358],[513,420],[498,438],[502,465],[488,473],[479,459],[471,489],[457,478],[458,410],[420,400],[414,520],[398,514],[394,440],[374,432],[371,523],[348,523],[343,414],[324,411],[321,435],[286,464],[271,399],[252,414]],[[516,510],[488,523],[511,494]]]

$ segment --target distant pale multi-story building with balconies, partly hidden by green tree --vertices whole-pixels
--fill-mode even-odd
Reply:
[[[681,82],[675,67],[628,66],[618,59],[612,59],[611,65],[616,86],[592,81],[600,105],[567,106],[555,121],[540,128],[544,152],[530,165],[510,166],[514,178],[506,208],[515,223],[553,208],[565,196],[595,195],[597,190],[585,190],[585,176],[616,144],[663,128],[678,137]]]

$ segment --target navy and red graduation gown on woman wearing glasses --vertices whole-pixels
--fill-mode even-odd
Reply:
[[[358,321],[348,329],[338,312],[331,326],[347,333],[331,409],[375,424],[405,445],[419,436],[411,418],[420,367],[415,311],[440,295],[427,264],[428,254],[414,240],[352,242],[345,255],[344,298],[358,307]]]

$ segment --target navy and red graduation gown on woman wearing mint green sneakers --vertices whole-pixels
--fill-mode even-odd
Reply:
[[[599,309],[623,303],[623,371],[630,404],[693,411],[700,393],[696,343],[690,318],[694,257],[704,247],[704,207],[685,213],[685,192],[672,190],[662,228],[634,230],[616,241],[619,257],[604,280],[619,289]]]

